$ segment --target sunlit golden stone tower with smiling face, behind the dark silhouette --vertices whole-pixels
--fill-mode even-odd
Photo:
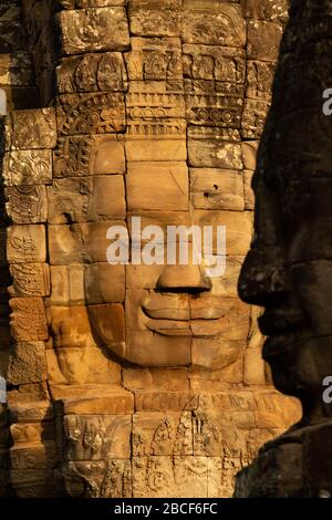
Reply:
[[[237,295],[286,20],[283,0],[1,2],[1,493],[230,497],[298,417]],[[111,266],[132,217],[227,226],[225,277]]]

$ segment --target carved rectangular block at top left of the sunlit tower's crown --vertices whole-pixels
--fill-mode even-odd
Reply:
[[[65,54],[125,51],[129,46],[127,17],[124,8],[62,11],[59,14],[59,22]]]

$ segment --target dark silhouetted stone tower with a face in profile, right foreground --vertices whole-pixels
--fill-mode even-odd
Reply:
[[[242,300],[264,306],[263,358],[276,387],[299,397],[303,417],[269,443],[237,479],[236,496],[332,493],[331,1],[293,1],[271,111],[258,153],[255,240],[239,281]]]

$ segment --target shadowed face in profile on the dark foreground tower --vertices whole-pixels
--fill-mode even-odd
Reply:
[[[264,306],[263,357],[276,386],[299,396],[305,415],[322,405],[322,382],[332,374],[331,118],[322,111],[331,49],[303,43],[286,59],[292,31],[253,176],[256,233],[239,292]]]

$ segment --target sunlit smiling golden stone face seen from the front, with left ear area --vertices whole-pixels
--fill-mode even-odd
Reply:
[[[74,138],[64,143],[66,154],[72,148],[77,154],[74,145]],[[59,179],[49,190],[56,347],[97,345],[120,363],[141,366],[222,368],[231,364],[248,335],[249,313],[236,298],[236,280],[240,256],[248,247],[250,216],[205,209],[218,205],[214,196],[220,196],[216,184],[220,173],[189,171],[183,160],[186,145],[181,136],[145,142],[101,136],[81,146],[90,147],[91,176]],[[179,160],[163,160],[169,148]],[[143,154],[148,160],[126,163],[125,152],[129,158]],[[55,175],[61,173],[62,153],[56,156]],[[225,170],[224,175],[224,183],[236,190],[240,174]],[[178,257],[175,266],[167,264],[165,243],[164,264],[134,264],[129,258],[126,266],[111,266],[106,261],[107,230],[115,225],[127,229],[132,249],[132,217],[141,218],[142,249],[147,245],[143,231],[147,226],[165,231],[165,241],[167,226],[197,225],[201,230],[212,226],[214,231],[226,226],[227,277],[209,278],[204,259],[193,263],[190,237],[188,243],[181,243],[188,247],[187,264],[180,266]],[[75,336],[72,331],[79,314]]]

